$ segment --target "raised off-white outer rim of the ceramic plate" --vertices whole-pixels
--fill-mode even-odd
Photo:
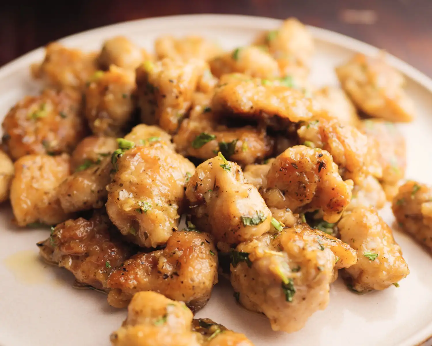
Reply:
[[[187,14],[187,15],[176,15],[176,16],[158,16],[150,17],[144,19],[135,19],[130,21],[118,22],[114,24],[109,24],[106,26],[97,27],[94,29],[89,29],[83,32],[79,32],[73,35],[68,35],[64,38],[56,40],[64,45],[73,46],[74,42],[83,42],[89,40],[92,36],[104,35],[105,32],[111,32],[117,29],[127,29],[128,27],[138,27],[138,26],[149,26],[149,25],[162,25],[166,21],[186,23],[191,25],[194,22],[194,26],[197,26],[197,21],[202,21],[206,26],[232,26],[238,28],[252,28],[265,27],[267,29],[273,29],[283,22],[283,19],[274,19],[270,17],[261,16],[247,16],[247,15],[234,15],[234,14]],[[349,37],[347,35],[340,34],[328,29],[322,29],[316,26],[307,25],[314,39],[317,39],[323,43],[330,43],[333,45],[340,46],[342,48],[349,49],[350,51],[360,52],[365,55],[371,56],[376,55],[380,49],[370,45],[368,43],[362,42],[355,38]],[[105,34],[106,35],[106,34]],[[127,34],[126,34],[127,35]],[[4,64],[0,67],[0,80],[6,79],[8,75],[15,74],[19,70],[27,69],[29,70],[30,64],[38,61],[44,54],[44,47],[35,48],[18,58]],[[432,93],[432,78],[428,77],[426,74],[422,73],[412,65],[402,61],[401,59],[395,57],[392,54],[386,53],[389,64],[402,72],[407,78],[413,80],[424,89]],[[415,334],[409,336],[407,339],[402,340],[403,345],[422,345],[427,341],[432,339],[432,322],[426,327],[418,330]]]

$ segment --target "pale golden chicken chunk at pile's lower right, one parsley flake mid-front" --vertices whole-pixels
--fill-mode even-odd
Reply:
[[[357,251],[357,263],[345,269],[355,291],[383,290],[410,273],[391,228],[374,209],[346,213],[338,229],[340,240]]]

